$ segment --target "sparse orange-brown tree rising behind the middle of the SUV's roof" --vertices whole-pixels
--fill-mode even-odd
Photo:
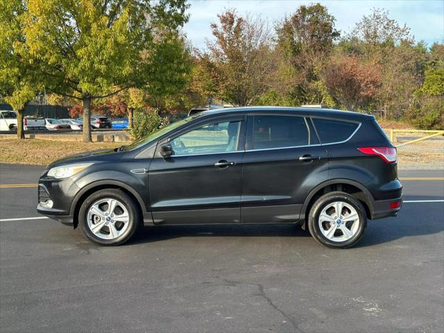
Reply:
[[[266,91],[273,69],[271,32],[260,19],[241,17],[234,10],[218,15],[211,25],[216,40],[200,55],[218,97],[234,105],[250,105]],[[210,60],[210,61],[209,61]]]

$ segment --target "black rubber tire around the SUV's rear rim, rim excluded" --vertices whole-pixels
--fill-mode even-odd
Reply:
[[[331,241],[327,237],[324,236],[324,234],[321,232],[321,227],[318,223],[318,218],[323,209],[329,205],[330,203],[334,203],[335,201],[341,201],[348,203],[348,205],[351,205],[353,208],[355,208],[358,216],[359,216],[359,228],[357,232],[351,237],[350,239],[346,241]],[[357,242],[362,238],[364,235],[364,230],[367,226],[367,216],[366,216],[366,210],[362,203],[357,200],[354,196],[347,194],[345,192],[341,191],[334,191],[327,193],[321,198],[318,198],[313,206],[311,206],[311,210],[309,212],[308,217],[308,228],[310,231],[311,236],[319,243],[324,246],[327,246],[329,248],[351,248],[352,246],[355,246]]]

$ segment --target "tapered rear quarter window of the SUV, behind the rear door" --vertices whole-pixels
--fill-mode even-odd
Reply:
[[[357,123],[331,119],[313,118],[313,122],[322,144],[343,142],[348,139],[358,127]]]

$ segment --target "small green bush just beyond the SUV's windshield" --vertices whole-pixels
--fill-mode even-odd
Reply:
[[[153,133],[158,128],[162,128],[169,124],[167,118],[160,117],[155,109],[150,110],[135,110],[133,116],[133,128],[131,129],[131,136],[138,140],[146,135]]]

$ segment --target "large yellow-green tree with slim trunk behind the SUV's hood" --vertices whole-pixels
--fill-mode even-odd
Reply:
[[[151,81],[187,22],[185,0],[28,0],[26,44],[45,62],[51,92],[83,103],[91,141],[91,103]],[[167,61],[171,60],[168,58]]]

